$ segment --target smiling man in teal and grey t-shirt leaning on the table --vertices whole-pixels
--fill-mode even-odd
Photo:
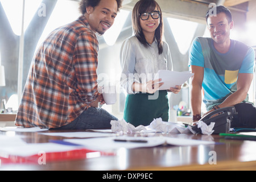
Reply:
[[[255,127],[256,110],[248,103],[253,80],[254,50],[230,39],[234,22],[224,6],[217,14],[206,16],[211,38],[196,38],[189,55],[192,77],[191,106],[194,124],[201,118],[201,89],[207,113],[221,107],[235,106],[238,112],[233,127]]]

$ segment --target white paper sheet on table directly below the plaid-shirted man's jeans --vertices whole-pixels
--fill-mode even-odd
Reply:
[[[58,136],[67,138],[93,138],[93,137],[113,137],[113,133],[97,133],[97,132],[61,132],[61,133],[39,133],[41,135]]]

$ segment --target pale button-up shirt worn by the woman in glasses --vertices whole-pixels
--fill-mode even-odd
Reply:
[[[156,40],[149,47],[145,47],[136,36],[131,36],[123,41],[120,60],[121,86],[128,94],[134,94],[134,82],[145,83],[153,80],[160,69],[172,71],[171,53],[166,42],[163,42],[163,53],[159,55]]]

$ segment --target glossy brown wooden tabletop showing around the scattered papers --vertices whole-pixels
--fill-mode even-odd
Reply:
[[[45,131],[61,132],[61,131]],[[63,131],[67,132],[67,131]],[[70,132],[70,131],[68,131]],[[75,131],[74,131],[75,132]],[[44,143],[50,137],[39,133],[3,132],[0,135],[23,135],[27,143]],[[98,158],[63,160],[47,164],[1,164],[0,170],[255,170],[256,142],[225,140],[219,135],[164,134],[169,137],[214,140],[211,146],[158,146],[151,148],[120,148],[115,155]],[[1,147],[1,146],[0,146]],[[215,155],[214,155],[215,154]],[[214,162],[216,157],[216,164]]]

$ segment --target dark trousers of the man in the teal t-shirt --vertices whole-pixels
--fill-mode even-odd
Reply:
[[[234,105],[237,115],[234,115],[231,127],[253,128],[256,127],[256,109],[253,104],[240,103]]]

